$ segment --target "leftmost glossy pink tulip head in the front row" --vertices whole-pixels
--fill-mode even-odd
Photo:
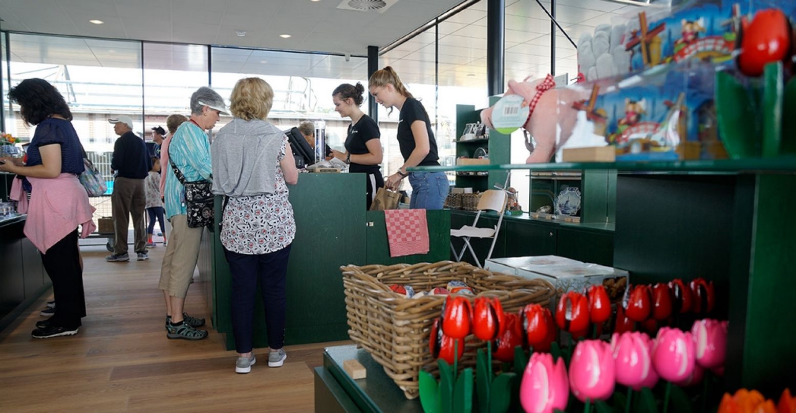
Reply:
[[[528,413],[563,411],[569,399],[567,366],[559,358],[554,365],[549,353],[533,353],[520,384],[520,403]]]

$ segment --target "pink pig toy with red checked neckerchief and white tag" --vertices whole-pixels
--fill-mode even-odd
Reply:
[[[567,88],[556,89],[556,83],[551,75],[532,82],[528,81],[529,78],[530,76],[522,82],[509,80],[509,90],[505,92],[504,96],[520,95],[525,98],[524,104],[531,106],[531,114],[522,127],[530,133],[536,141],[536,145],[526,143],[531,154],[525,163],[549,162],[556,149],[563,146],[566,139],[572,134],[572,128],[575,125],[575,118],[568,116],[565,122],[562,122],[561,133],[557,132],[559,106],[562,106],[564,110],[571,110],[572,102],[578,98],[578,92]],[[537,100],[535,103],[534,99]],[[493,107],[489,107],[481,111],[481,122],[494,129],[492,110]]]

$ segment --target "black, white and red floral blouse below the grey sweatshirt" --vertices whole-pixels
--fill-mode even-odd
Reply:
[[[277,161],[285,157],[287,137]],[[271,194],[230,197],[224,208],[221,244],[240,254],[265,254],[290,245],[296,234],[293,207],[287,200],[282,168],[276,168],[276,186]]]

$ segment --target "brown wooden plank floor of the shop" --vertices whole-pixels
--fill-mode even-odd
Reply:
[[[0,335],[0,412],[18,411],[313,411],[312,368],[326,345],[287,346],[287,361],[235,373],[236,353],[224,351],[212,328],[200,342],[169,340],[158,290],[165,248],[149,261],[107,263],[102,246],[83,247],[88,317],[72,337],[30,337],[43,296]],[[201,284],[185,311],[208,318]],[[198,288],[197,288],[198,287]]]

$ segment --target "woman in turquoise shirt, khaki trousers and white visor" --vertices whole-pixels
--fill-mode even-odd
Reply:
[[[222,113],[227,114],[226,105],[216,91],[200,87],[193,92],[191,117],[170,139],[168,156],[174,166],[163,166],[166,169],[166,189],[163,191],[166,218],[173,227],[158,285],[166,298],[167,338],[201,340],[208,334],[205,330],[196,329],[205,325],[205,318],[191,317],[183,311],[185,295],[199,257],[202,228],[188,226],[185,187],[174,174],[174,167],[185,176],[185,182],[212,179],[210,142],[205,130],[213,129]]]

